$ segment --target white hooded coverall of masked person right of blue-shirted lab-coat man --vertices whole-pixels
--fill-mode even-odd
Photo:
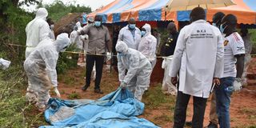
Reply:
[[[152,65],[152,69],[157,62],[156,58],[156,47],[157,47],[157,38],[151,34],[151,26],[149,24],[145,24],[142,26],[146,30],[146,34],[142,37],[141,42],[138,44],[138,51],[140,51],[143,55],[146,56],[150,60]]]

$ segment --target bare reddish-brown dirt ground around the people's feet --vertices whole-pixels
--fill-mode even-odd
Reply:
[[[162,71],[161,71],[162,72]],[[255,127],[256,126],[256,58],[253,58],[250,62],[250,68],[248,70],[250,86],[246,86],[240,92],[236,92],[232,95],[231,105],[230,105],[230,122],[231,127]],[[157,75],[157,74],[154,74]],[[110,73],[110,68],[105,67],[102,75],[102,85],[101,88],[104,91],[104,94],[94,94],[94,82],[92,81],[90,88],[86,91],[82,91],[81,88],[85,84],[85,68],[78,67],[77,69],[70,70],[66,75],[59,76],[59,86],[58,89],[62,94],[64,99],[77,99],[77,98],[86,98],[86,99],[97,99],[102,96],[109,94],[110,92],[118,88],[118,73],[112,70]],[[159,79],[159,78],[157,78]],[[159,81],[159,80],[158,80]],[[155,92],[154,92],[155,90]],[[154,98],[151,98],[150,93],[154,92]],[[162,99],[158,101],[158,94],[161,95],[159,98],[164,97],[168,102],[161,102]],[[142,102],[145,102],[146,109],[143,115],[139,116],[140,118],[146,118],[151,122],[154,122],[156,125],[161,126],[162,128],[170,128],[173,125],[173,114],[174,114],[174,105],[175,98],[173,96],[165,96],[161,94],[161,83],[151,83],[150,90],[143,97],[145,99]],[[154,105],[154,102],[149,102],[148,99],[155,99],[154,102],[158,102],[157,106]],[[159,103],[160,102],[160,103]],[[187,121],[190,121],[192,113],[192,102],[187,110]],[[210,111],[210,99],[207,102],[206,114],[204,120],[204,126],[207,126],[209,123],[209,111]]]

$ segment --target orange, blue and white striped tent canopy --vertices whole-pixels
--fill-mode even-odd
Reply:
[[[88,14],[87,17],[94,17],[96,14],[102,15],[104,23],[126,22],[130,18],[137,21],[189,21],[190,10],[169,12],[166,11],[166,3],[169,0],[115,0],[107,6]],[[220,7],[206,10],[207,21],[212,21],[212,17],[218,11],[225,14],[235,14],[238,17],[238,23],[256,24],[256,12],[247,6],[246,2],[252,0],[234,0],[237,5]]]

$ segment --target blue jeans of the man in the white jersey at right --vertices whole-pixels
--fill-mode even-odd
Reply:
[[[221,85],[216,86],[216,110],[220,128],[230,128],[230,97],[234,91],[234,78],[221,78]]]

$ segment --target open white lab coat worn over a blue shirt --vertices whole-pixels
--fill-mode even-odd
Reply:
[[[126,42],[126,45],[134,50],[138,50],[138,43],[141,42],[142,34],[141,30],[135,27],[135,37],[131,34],[129,30],[129,25],[123,27],[118,35],[118,41]]]

